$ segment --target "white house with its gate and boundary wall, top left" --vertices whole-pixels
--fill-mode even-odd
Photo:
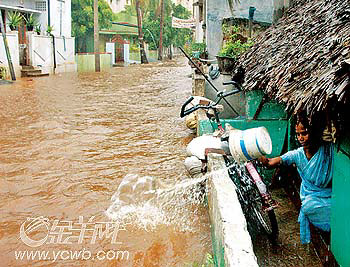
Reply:
[[[1,0],[0,10],[16,76],[19,76],[21,66],[40,68],[45,73],[76,69],[74,38],[71,36],[71,0]],[[28,31],[24,24],[11,31],[9,14],[12,12],[26,16],[33,14],[41,28],[40,34]],[[54,37],[46,32],[49,25]],[[2,37],[0,42],[0,65],[4,66],[7,58]]]

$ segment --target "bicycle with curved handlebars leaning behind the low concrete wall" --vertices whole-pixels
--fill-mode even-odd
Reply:
[[[193,96],[189,97],[181,107],[180,117],[183,118],[199,109],[205,110],[207,117],[217,123],[218,136],[221,138],[221,141],[228,142],[228,131],[223,128],[219,118],[219,112],[222,110],[222,106],[219,103],[225,97],[241,92],[241,88],[236,82],[223,83],[223,85],[230,84],[235,85],[237,89],[230,92],[218,92],[214,101],[209,103],[200,101],[199,104],[186,109],[186,106],[194,99]],[[206,152],[209,150],[206,149]],[[217,149],[214,151],[219,152]],[[223,151],[221,151],[221,154],[224,156],[229,176],[236,185],[236,192],[247,219],[249,232],[251,234],[254,234],[256,231],[264,232],[270,242],[276,245],[278,224],[274,209],[277,208],[278,204],[272,199],[266,184],[256,168],[257,161],[250,160],[244,166],[241,166],[233,159],[232,155],[229,155],[227,152],[223,153]]]

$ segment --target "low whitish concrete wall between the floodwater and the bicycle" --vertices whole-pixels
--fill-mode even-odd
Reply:
[[[208,206],[216,266],[257,267],[247,222],[221,155],[208,155],[208,172]]]

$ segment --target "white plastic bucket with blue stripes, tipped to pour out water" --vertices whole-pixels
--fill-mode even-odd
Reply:
[[[272,152],[270,134],[265,127],[231,130],[228,142],[230,152],[237,162],[257,159]]]

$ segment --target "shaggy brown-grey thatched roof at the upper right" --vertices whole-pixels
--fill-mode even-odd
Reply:
[[[290,111],[323,110],[350,96],[349,0],[306,0],[255,39],[240,58],[247,90],[265,90]]]

